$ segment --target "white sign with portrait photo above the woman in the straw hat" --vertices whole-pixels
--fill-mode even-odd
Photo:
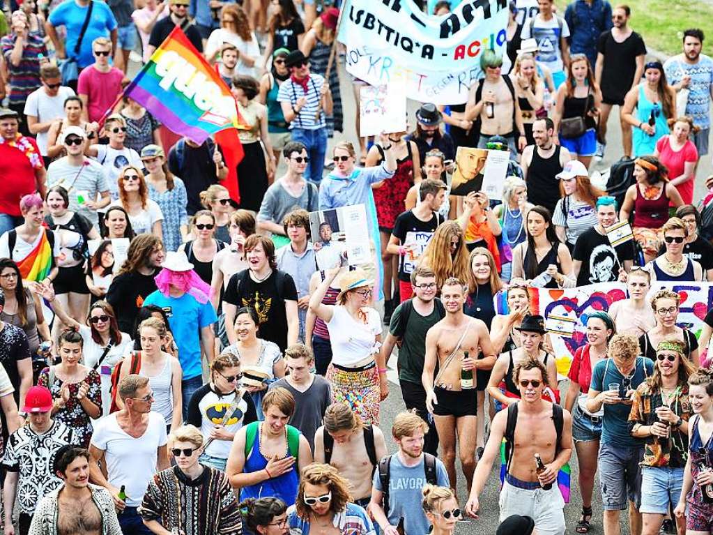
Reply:
[[[309,231],[320,270],[344,263],[371,262],[369,225],[363,204],[311,212]]]

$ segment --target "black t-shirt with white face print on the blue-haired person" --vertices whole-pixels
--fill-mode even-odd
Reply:
[[[572,258],[582,263],[577,277],[578,286],[613,282],[619,277],[624,261],[634,260],[633,243],[626,242],[612,248],[609,238],[590,228],[577,239]]]

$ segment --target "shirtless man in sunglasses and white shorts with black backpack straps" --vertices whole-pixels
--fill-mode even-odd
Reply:
[[[565,502],[556,480],[560,468],[572,455],[572,417],[565,409],[542,399],[548,373],[541,362],[528,360],[518,365],[515,382],[522,399],[508,410],[498,412],[493,419],[490,439],[473,478],[466,513],[478,518],[478,496],[491,473],[493,461],[500,458],[508,414],[516,411],[513,437],[508,440],[510,457],[500,496],[500,521],[512,514],[530,516],[535,520],[538,534],[564,535]],[[555,415],[560,412],[562,430],[558,443]],[[535,455],[545,464],[540,474],[536,472]],[[550,488],[545,490],[543,487],[548,485]]]

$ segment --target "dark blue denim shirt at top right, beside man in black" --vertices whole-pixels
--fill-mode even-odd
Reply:
[[[612,6],[607,0],[575,0],[567,6],[565,21],[570,28],[571,54],[587,54],[592,68],[597,59],[597,40],[612,28]]]

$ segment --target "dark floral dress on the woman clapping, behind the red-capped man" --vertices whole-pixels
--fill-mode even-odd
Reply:
[[[101,408],[101,378],[95,370],[89,370],[86,378],[80,382],[69,384],[69,399],[63,409],[59,409],[54,415],[56,419],[63,422],[67,427],[73,430],[77,445],[83,448],[89,447],[89,439],[93,432],[91,418],[84,412],[81,403],[77,399],[79,385],[86,382],[89,385],[87,397],[93,404]],[[59,377],[54,377],[54,382],[49,383],[49,368],[45,368],[40,373],[37,384],[42,387],[47,387],[52,392],[52,399],[59,399],[59,391],[62,388],[63,381]]]

